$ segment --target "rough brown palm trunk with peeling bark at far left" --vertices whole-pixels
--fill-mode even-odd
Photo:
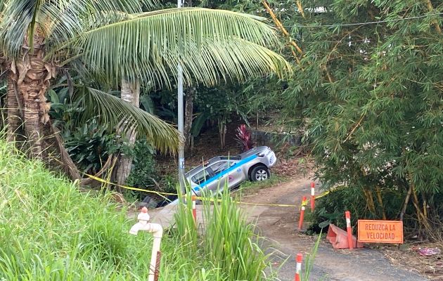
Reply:
[[[15,108],[20,107],[23,98],[23,122],[27,144],[30,145],[30,155],[36,158],[44,158],[42,155],[42,125],[49,121],[49,109],[51,105],[46,103],[46,89],[49,87],[49,80],[56,75],[56,69],[49,63],[43,61],[44,58],[44,38],[39,32],[34,36],[34,49],[29,50],[25,39],[24,55],[11,63],[11,72],[8,76],[8,129],[9,133],[14,133],[18,128],[18,112]],[[17,96],[15,89],[17,86]],[[15,100],[13,99],[13,94]],[[10,106],[11,105],[11,106]],[[11,135],[9,137],[11,140]]]

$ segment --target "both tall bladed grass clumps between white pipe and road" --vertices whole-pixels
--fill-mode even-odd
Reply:
[[[191,213],[190,193],[186,203],[177,208],[176,234],[189,249],[196,248],[195,253],[219,268],[217,279],[211,280],[270,280],[271,277],[264,274],[269,256],[260,249],[254,226],[246,223],[240,208],[229,196],[229,188],[224,188],[221,200],[205,195],[203,226],[199,231]]]

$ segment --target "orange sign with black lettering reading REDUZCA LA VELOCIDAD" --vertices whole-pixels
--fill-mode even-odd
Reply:
[[[359,220],[359,242],[403,244],[403,222]]]

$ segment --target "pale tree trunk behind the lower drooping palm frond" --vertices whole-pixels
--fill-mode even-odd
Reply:
[[[122,100],[131,103],[132,105],[139,107],[140,105],[140,84],[138,82],[131,84],[128,81],[122,80],[122,91],[121,91]],[[122,127],[131,126],[128,124],[128,121],[125,121]],[[119,133],[122,133],[122,127],[119,129]],[[134,126],[131,126],[129,129],[125,130],[127,133],[123,136],[123,145],[127,145],[129,148],[134,148],[137,133],[135,131]],[[125,155],[120,152],[119,161],[117,162],[117,171],[115,174],[115,181],[117,184],[124,185],[126,183],[129,174],[131,173],[132,166],[132,156]]]

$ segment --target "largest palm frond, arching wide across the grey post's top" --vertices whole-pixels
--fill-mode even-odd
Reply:
[[[281,56],[264,48],[277,40],[263,20],[232,11],[168,9],[85,32],[76,46],[84,51],[84,65],[115,83],[133,77],[170,86],[168,76],[181,64],[186,84],[196,79],[213,85],[220,76],[288,70]]]

